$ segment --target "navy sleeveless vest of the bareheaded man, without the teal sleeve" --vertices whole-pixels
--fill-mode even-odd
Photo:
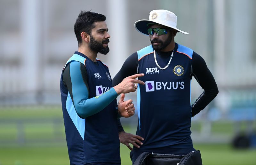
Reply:
[[[86,67],[89,98],[97,98],[112,88],[108,67],[99,59],[97,59],[98,65],[95,65],[91,59],[82,53],[81,55],[77,53],[68,60],[67,64],[72,61],[81,62]],[[70,164],[121,163],[115,101],[99,113],[82,119],[76,113],[68,89],[62,82],[62,75],[60,87]]]

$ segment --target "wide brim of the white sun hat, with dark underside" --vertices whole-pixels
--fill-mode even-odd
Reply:
[[[140,33],[142,33],[144,35],[148,35],[148,28],[147,28],[148,26],[147,26],[147,24],[160,24],[160,25],[164,25],[164,26],[167,26],[169,28],[175,29],[178,32],[181,32],[183,34],[188,34],[187,32],[184,32],[180,29],[177,29],[176,27],[172,27],[172,26],[169,26],[167,24],[163,24],[163,23],[160,23],[160,22],[157,22],[157,21],[138,20],[134,23],[134,26],[135,26],[136,30],[138,30]]]

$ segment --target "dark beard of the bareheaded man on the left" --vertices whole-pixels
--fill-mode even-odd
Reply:
[[[95,51],[95,52],[99,52],[101,54],[107,54],[109,52],[109,48],[108,46],[106,48],[104,48],[104,46],[102,45],[102,43],[106,43],[106,42],[109,42],[109,39],[105,39],[103,40],[101,43],[96,41],[92,35],[91,35],[91,41],[90,41],[90,44],[89,44],[89,47],[92,51]]]

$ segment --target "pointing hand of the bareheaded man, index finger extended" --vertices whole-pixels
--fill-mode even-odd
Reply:
[[[129,77],[124,78],[124,80],[119,83],[118,85],[114,86],[114,89],[116,90],[116,93],[120,95],[121,93],[130,93],[134,92],[138,86],[136,83],[139,83],[141,85],[144,85],[145,83],[140,80],[136,80],[138,77],[144,76],[143,73],[131,75]]]

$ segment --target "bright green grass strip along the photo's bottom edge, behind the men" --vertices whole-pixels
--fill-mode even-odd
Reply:
[[[204,165],[255,165],[256,150],[234,150],[229,145],[195,144]],[[122,165],[131,165],[130,150],[120,145]],[[1,165],[68,165],[66,146],[0,148]]]

